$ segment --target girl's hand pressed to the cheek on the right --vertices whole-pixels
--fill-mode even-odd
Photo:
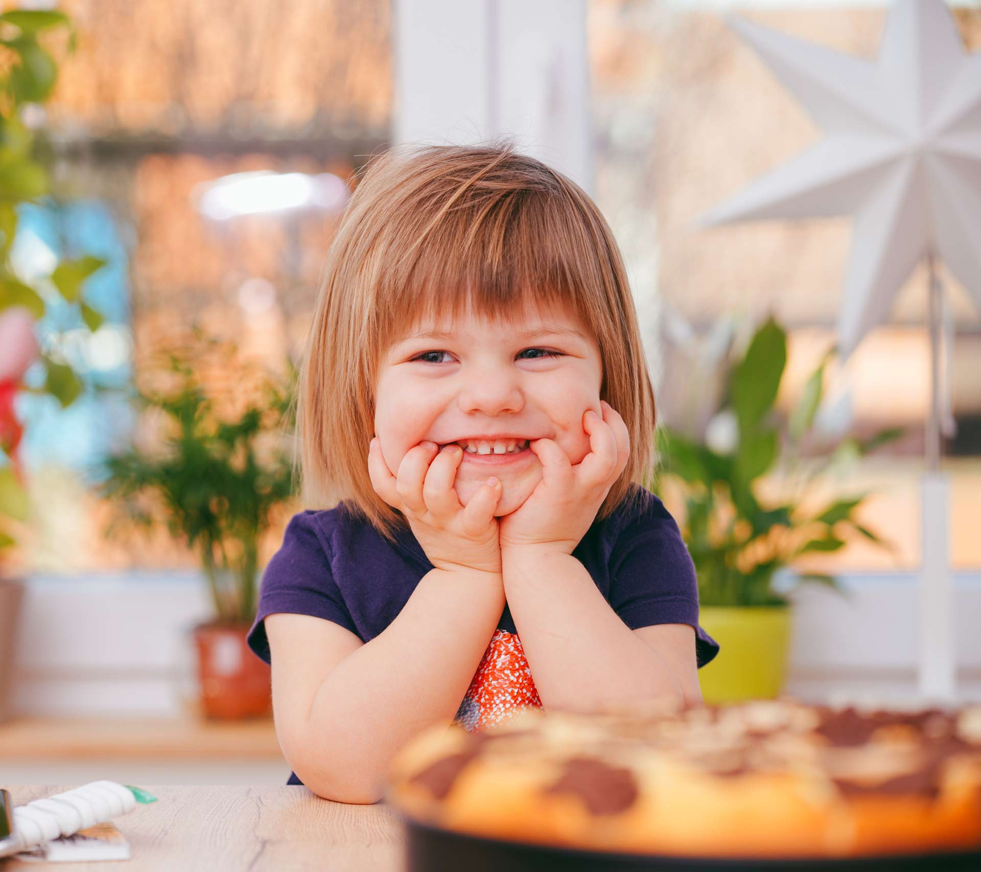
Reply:
[[[542,462],[542,481],[517,509],[498,519],[502,551],[528,545],[571,554],[593,524],[610,487],[627,466],[630,433],[603,400],[603,417],[583,416],[590,453],[573,466],[552,439],[529,443]]]

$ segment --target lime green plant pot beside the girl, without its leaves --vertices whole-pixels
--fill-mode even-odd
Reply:
[[[707,704],[780,694],[790,653],[789,606],[703,606],[698,623],[719,643],[715,659],[698,670]]]

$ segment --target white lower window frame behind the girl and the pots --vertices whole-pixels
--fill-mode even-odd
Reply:
[[[814,586],[797,608],[787,692],[801,698],[903,696],[915,688],[917,578],[842,576],[846,600]],[[981,573],[955,573],[958,692],[981,699]],[[191,631],[212,614],[194,572],[27,580],[15,712],[176,718],[196,697]]]

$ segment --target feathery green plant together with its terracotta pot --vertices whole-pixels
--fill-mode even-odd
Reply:
[[[256,610],[259,543],[294,489],[283,428],[294,426],[296,371],[289,363],[280,379],[249,370],[233,343],[197,327],[193,337],[143,371],[144,378],[170,377],[168,386],[134,390],[136,405],[144,416],[156,415],[163,433],[156,445],[134,440],[106,459],[100,490],[123,508],[107,533],[163,522],[195,552],[215,612],[191,628],[201,711],[209,718],[265,715],[270,668],[251,655],[245,637]],[[223,385],[220,396],[209,395],[214,385],[202,366],[216,351],[213,372],[235,383]]]

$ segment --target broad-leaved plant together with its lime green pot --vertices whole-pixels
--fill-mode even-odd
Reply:
[[[727,388],[704,434],[658,432],[653,489],[679,519],[697,571],[699,620],[721,645],[719,656],[699,670],[706,702],[781,692],[791,634],[788,594],[803,583],[845,592],[830,575],[794,571],[801,558],[837,551],[856,537],[889,547],[855,518],[867,494],[814,505],[813,486],[829,468],[902,434],[890,429],[862,440],[814,433],[834,354],[832,348],[824,355],[791,412],[780,414],[787,335],[770,318],[734,364],[723,356]],[[759,487],[771,472],[779,473],[779,498],[767,498]],[[779,589],[778,573],[786,583]]]

